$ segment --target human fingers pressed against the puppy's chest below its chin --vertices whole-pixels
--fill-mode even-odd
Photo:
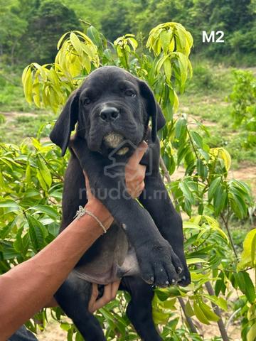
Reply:
[[[148,145],[146,142],[142,141],[125,166],[125,183],[127,191],[134,199],[141,195],[145,187],[144,178],[146,166],[140,165],[139,162],[142,160],[147,148]]]

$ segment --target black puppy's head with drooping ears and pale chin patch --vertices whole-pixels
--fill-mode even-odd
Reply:
[[[119,67],[100,67],[92,72],[65,104],[50,133],[62,149],[71,131],[86,139],[91,151],[124,155],[144,139],[152,120],[151,139],[165,124],[164,115],[148,85]],[[120,148],[119,148],[120,146]]]

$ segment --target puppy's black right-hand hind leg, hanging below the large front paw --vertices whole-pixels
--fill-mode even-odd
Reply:
[[[127,316],[134,325],[143,341],[162,341],[152,318],[151,301],[154,291],[139,277],[124,277],[120,285],[121,290],[128,291],[132,296],[127,307]]]

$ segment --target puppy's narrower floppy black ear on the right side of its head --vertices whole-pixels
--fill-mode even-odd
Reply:
[[[166,124],[166,119],[164,118],[164,114],[161,111],[160,105],[156,102],[153,92],[149,88],[149,85],[146,82],[139,81],[139,87],[141,90],[142,97],[146,99],[146,112],[152,119],[152,131],[151,131],[151,139],[152,141],[156,141],[156,132],[163,128],[164,124]]]

